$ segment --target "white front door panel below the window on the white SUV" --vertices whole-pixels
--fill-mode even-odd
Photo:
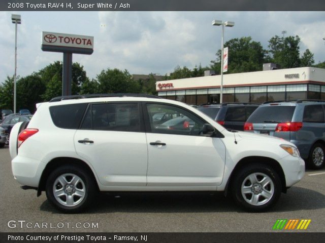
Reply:
[[[219,138],[148,133],[147,140],[148,186],[217,186],[222,182],[225,146]]]

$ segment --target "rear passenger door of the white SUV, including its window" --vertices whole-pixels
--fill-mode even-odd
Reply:
[[[75,134],[77,153],[105,186],[147,184],[148,148],[140,111],[138,103],[91,104]]]

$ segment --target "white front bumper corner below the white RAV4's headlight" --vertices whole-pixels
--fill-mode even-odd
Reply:
[[[284,172],[286,187],[296,184],[304,177],[305,161],[301,157],[288,155],[280,159],[279,163]]]

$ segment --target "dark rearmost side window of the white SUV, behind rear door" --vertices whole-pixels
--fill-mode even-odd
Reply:
[[[50,114],[56,127],[78,129],[87,103],[56,105],[50,107]]]

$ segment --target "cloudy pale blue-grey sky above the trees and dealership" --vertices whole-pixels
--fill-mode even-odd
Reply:
[[[73,54],[73,62],[96,78],[103,69],[127,69],[131,74],[165,75],[177,65],[207,66],[221,49],[221,26],[212,20],[233,21],[224,41],[251,36],[267,49],[275,35],[299,35],[300,53],[325,61],[325,12],[0,12],[0,82],[14,74],[15,25],[20,14],[17,75],[37,72],[62,53],[41,50],[42,31],[94,36],[92,55]]]

